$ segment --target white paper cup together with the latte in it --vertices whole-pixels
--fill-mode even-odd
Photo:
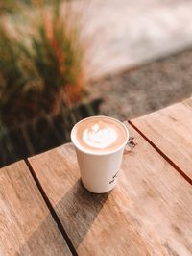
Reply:
[[[73,127],[71,141],[88,191],[104,193],[115,187],[128,140],[126,126],[104,115],[85,118]]]

